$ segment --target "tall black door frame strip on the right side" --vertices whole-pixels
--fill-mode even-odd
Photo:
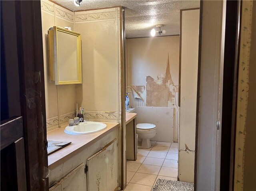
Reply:
[[[240,47],[240,17],[242,2],[227,1],[224,81],[222,106],[222,144],[220,158],[220,189],[233,190],[234,139]],[[229,181],[228,181],[229,180]]]

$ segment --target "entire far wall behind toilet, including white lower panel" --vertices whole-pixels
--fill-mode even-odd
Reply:
[[[126,92],[130,93],[130,107],[140,106],[144,112],[150,110],[143,106],[155,108],[166,116],[165,124],[169,121],[166,107],[174,108],[170,126],[161,126],[157,118],[143,118],[138,114],[138,121],[157,125],[157,136],[152,140],[178,141],[179,47],[179,35],[126,39]],[[141,99],[134,98],[132,91]]]

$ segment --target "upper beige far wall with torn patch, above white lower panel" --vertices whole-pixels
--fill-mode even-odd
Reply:
[[[179,80],[179,36],[127,39],[126,47],[126,85],[142,98],[134,100],[130,95],[130,106],[173,106]]]

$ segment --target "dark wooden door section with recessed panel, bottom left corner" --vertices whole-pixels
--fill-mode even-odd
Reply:
[[[22,117],[12,117],[2,121],[0,131],[1,154],[4,155],[3,158],[1,156],[1,160],[3,159],[1,161],[1,175],[7,176],[4,179],[3,189],[6,189],[7,186],[10,189],[24,191],[27,189],[27,185]],[[2,169],[2,165],[7,166],[7,168]],[[8,178],[10,176],[12,179]]]

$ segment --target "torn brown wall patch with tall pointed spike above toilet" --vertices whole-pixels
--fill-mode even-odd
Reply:
[[[146,106],[171,107],[175,104],[175,93],[176,87],[172,82],[168,54],[165,75],[157,79],[146,77]]]

